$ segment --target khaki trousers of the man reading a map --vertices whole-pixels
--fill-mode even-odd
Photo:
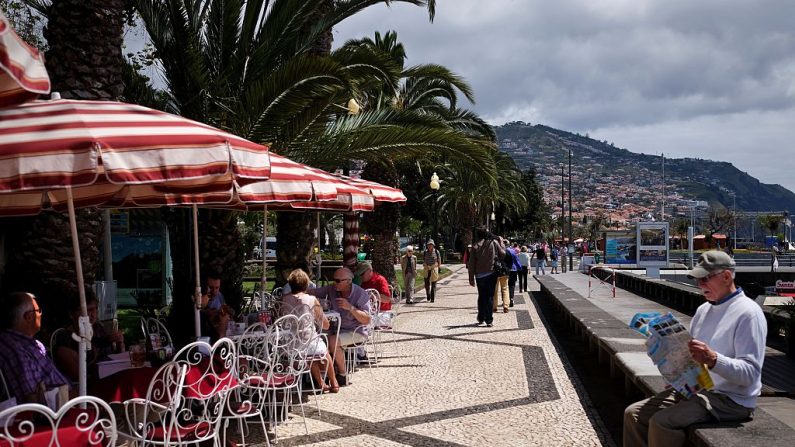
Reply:
[[[702,391],[685,399],[673,389],[665,390],[624,410],[624,447],[684,446],[689,425],[742,421],[752,416],[753,409],[724,394]]]

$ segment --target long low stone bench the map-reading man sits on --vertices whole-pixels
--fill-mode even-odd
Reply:
[[[550,300],[575,334],[596,347],[600,363],[609,361],[611,377],[624,376],[627,396],[638,392],[652,396],[666,388],[665,379],[646,355],[643,335],[550,276],[536,280],[542,299]],[[757,408],[749,421],[693,425],[688,441],[698,447],[792,447],[795,430]]]

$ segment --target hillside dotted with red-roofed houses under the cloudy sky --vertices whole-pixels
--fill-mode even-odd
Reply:
[[[575,197],[602,193],[603,199],[607,199],[606,205],[620,206],[629,201],[659,209],[662,197],[660,156],[630,152],[588,135],[540,124],[512,122],[495,130],[500,150],[509,153],[520,168],[534,168],[545,186],[557,191],[558,198],[560,163],[568,163],[568,150],[571,149]],[[713,207],[731,208],[732,193],[736,194],[738,211],[795,210],[792,191],[762,183],[731,163],[700,158],[665,159],[666,206],[698,200]]]

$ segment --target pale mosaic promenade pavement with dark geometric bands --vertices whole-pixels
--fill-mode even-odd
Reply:
[[[452,270],[435,303],[400,308],[397,343],[386,335],[378,366],[322,396],[320,415],[311,400],[309,435],[293,417],[276,428],[277,445],[611,445],[529,294],[494,327],[475,327],[476,289],[463,266]]]

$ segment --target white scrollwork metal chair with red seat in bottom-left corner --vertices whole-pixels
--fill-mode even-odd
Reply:
[[[41,404],[17,405],[0,412],[0,421],[0,440],[12,446],[67,446],[75,438],[82,438],[81,445],[113,446],[118,437],[110,406],[93,396],[72,399],[57,412]]]

